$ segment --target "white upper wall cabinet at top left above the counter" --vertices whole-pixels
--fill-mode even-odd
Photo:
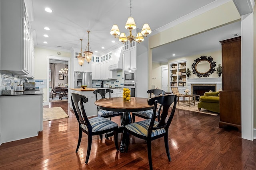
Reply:
[[[24,0],[1,0],[1,72],[29,75],[30,25]],[[11,56],[11,57],[10,57]]]

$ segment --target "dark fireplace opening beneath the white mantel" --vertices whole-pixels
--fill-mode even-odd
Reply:
[[[200,96],[204,96],[205,92],[209,92],[212,90],[213,92],[216,91],[216,84],[196,84],[191,85],[192,88],[192,94],[199,94]],[[199,100],[199,97],[196,97],[196,100]]]

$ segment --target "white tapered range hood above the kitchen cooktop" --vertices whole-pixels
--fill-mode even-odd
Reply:
[[[123,68],[123,47],[115,49],[108,66],[108,70],[122,70]]]

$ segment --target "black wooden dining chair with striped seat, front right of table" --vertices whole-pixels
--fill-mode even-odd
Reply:
[[[168,114],[169,108],[171,104],[173,104],[172,111]],[[157,105],[161,104],[163,109],[160,113],[160,121],[155,121],[154,117],[156,116]],[[174,112],[176,109],[177,104],[177,96],[176,95],[164,95],[164,96],[157,96],[150,98],[148,100],[148,105],[152,106],[153,108],[153,115],[151,119],[147,119],[144,121],[138,121],[135,123],[130,123],[124,127],[124,134],[123,135],[133,135],[140,139],[144,139],[147,141],[148,145],[148,163],[150,170],[153,169],[152,166],[152,156],[151,156],[151,141],[158,139],[160,137],[164,137],[164,144],[165,150],[168,157],[168,160],[171,161],[169,145],[168,145],[168,131],[170,124],[172,122],[172,118],[174,116]],[[126,152],[128,151],[129,145],[129,136],[126,137]],[[157,149],[157,148],[155,148]]]

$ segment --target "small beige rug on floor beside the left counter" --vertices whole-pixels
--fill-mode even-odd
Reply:
[[[43,108],[43,121],[69,117],[61,107]]]

